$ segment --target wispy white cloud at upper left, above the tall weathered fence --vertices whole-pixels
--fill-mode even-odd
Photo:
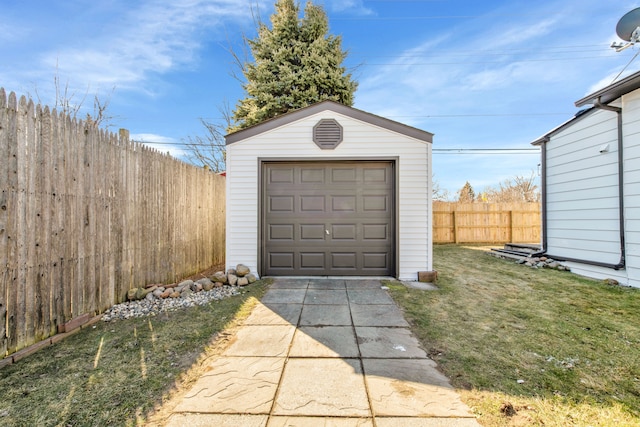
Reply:
[[[35,47],[39,62],[30,62],[21,74],[31,81],[50,81],[57,70],[60,80],[74,88],[116,87],[153,94],[158,84],[152,76],[189,67],[202,43],[224,39],[223,23],[250,22],[252,5],[251,0],[147,0],[128,7],[114,5],[105,14],[111,20],[90,34],[75,34],[75,41],[66,36],[61,45],[56,44],[55,35],[43,40],[44,47]]]

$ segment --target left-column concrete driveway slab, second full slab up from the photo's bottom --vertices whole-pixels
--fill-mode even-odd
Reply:
[[[295,325],[245,325],[232,337],[224,356],[286,356]]]

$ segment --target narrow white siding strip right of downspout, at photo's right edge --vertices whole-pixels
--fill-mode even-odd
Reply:
[[[640,90],[625,95],[622,108],[627,272],[640,287]]]

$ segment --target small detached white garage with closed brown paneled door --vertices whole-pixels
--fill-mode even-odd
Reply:
[[[432,138],[331,101],[227,135],[227,265],[417,280],[432,269]]]

